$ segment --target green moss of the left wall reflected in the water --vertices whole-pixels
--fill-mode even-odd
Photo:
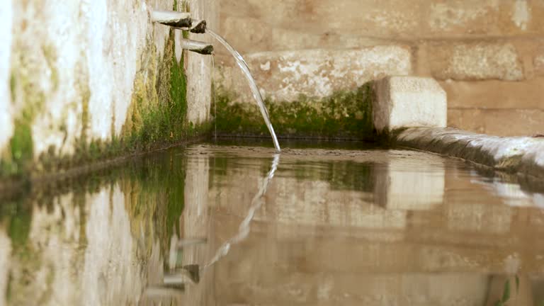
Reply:
[[[62,240],[74,248],[86,246],[86,215],[89,214],[90,209],[90,203],[86,203],[86,198],[89,198],[89,194],[104,190],[111,191],[113,190],[111,186],[119,186],[120,191],[124,194],[125,202],[115,202],[111,205],[121,205],[120,209],[125,209],[130,218],[132,239],[138,248],[135,256],[138,256],[138,259],[142,261],[149,259],[152,246],[157,242],[163,251],[162,254],[165,254],[164,252],[169,248],[169,238],[174,234],[173,231],[179,233],[181,230],[179,222],[185,200],[186,158],[180,157],[179,154],[179,149],[170,149],[149,155],[146,158],[129,159],[123,164],[102,169],[87,176],[80,176],[77,179],[52,182],[45,188],[35,186],[30,198],[26,198],[29,196],[26,192],[10,199],[0,200],[3,203],[0,205],[0,221],[6,225],[13,245],[13,262],[11,263],[13,268],[11,270],[14,271],[14,277],[11,278],[8,285],[11,290],[10,301],[14,305],[26,305],[29,300],[36,301],[49,297],[49,293],[42,295],[42,291],[32,290],[36,286],[44,288],[44,291],[52,290],[46,288],[45,285],[55,276],[52,271],[47,269],[47,266],[44,266],[50,263],[52,259],[50,254],[43,258],[40,257],[44,249],[40,248],[40,244],[30,242],[28,239],[30,225],[33,222],[32,212],[37,211],[33,210],[30,203],[45,205],[41,210],[45,212],[46,210],[43,208],[49,207],[48,205],[58,205],[54,200],[55,197],[72,193],[72,200],[64,205],[77,206],[79,209],[65,210],[63,207],[61,211],[63,214],[65,212],[76,214],[68,216],[68,220],[74,220],[73,218],[77,218],[77,214],[79,214],[79,222],[74,223],[79,227],[62,226],[68,220],[59,220],[61,222],[59,227],[50,231],[45,229],[45,232],[40,232],[39,236],[47,239],[55,239],[55,237],[74,239]],[[55,215],[58,208],[55,206],[51,208],[50,213]],[[38,226],[37,228],[49,225],[47,218],[42,221],[45,223],[37,220],[38,223],[35,224]],[[70,230],[70,232],[64,232],[66,230]],[[38,247],[33,247],[33,245]],[[77,250],[75,253],[71,253],[69,250],[65,251],[67,253],[63,254],[83,255]],[[73,263],[77,262],[70,261],[70,264]],[[37,271],[47,271],[45,278],[36,277]],[[38,280],[46,280],[46,282],[37,283]]]

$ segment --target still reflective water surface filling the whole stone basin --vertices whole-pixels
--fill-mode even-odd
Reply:
[[[360,143],[287,147],[173,148],[4,196],[0,305],[544,300],[542,183]]]

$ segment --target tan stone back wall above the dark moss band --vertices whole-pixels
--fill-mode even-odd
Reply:
[[[417,75],[446,90],[450,126],[496,135],[544,130],[541,0],[223,0],[220,32],[270,98]],[[232,61],[218,58],[225,87],[245,100]]]

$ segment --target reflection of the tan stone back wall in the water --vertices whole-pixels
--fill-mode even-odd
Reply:
[[[388,152],[387,164],[350,158],[351,170],[358,162],[368,169],[354,171],[372,182],[365,186],[345,179],[341,157],[282,154],[249,236],[229,247],[206,286],[225,304],[484,305],[504,279],[492,276],[499,289],[488,297],[489,275],[503,275],[513,254],[521,273],[543,273],[538,251],[521,251],[544,247],[523,238],[539,231],[523,221],[532,213],[461,176],[460,162],[405,154]],[[210,249],[239,231],[271,160],[210,157]]]

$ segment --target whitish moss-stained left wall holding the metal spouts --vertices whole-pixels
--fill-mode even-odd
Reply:
[[[182,52],[181,31],[149,11],[191,10],[214,26],[215,1],[4,2],[2,176],[164,146],[208,122],[210,57]]]

